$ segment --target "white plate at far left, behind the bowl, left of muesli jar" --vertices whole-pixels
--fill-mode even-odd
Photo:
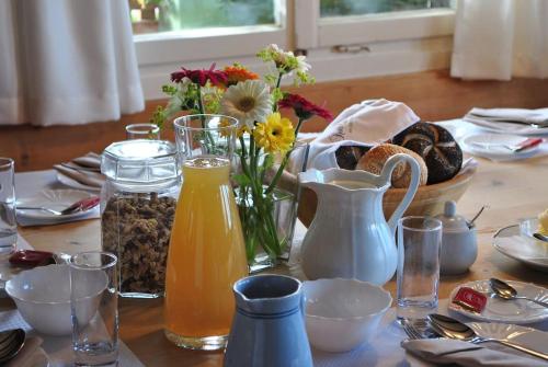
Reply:
[[[37,206],[37,207],[46,207],[54,210],[62,210],[68,206],[75,204],[78,200],[92,197],[93,194],[87,193],[84,191],[79,190],[44,190],[35,196],[32,197],[23,197],[18,199],[18,206]],[[87,215],[90,210],[94,208],[78,211],[73,214],[69,214],[66,216],[56,216],[54,214],[44,211],[44,210],[22,210],[18,209],[18,216],[30,218],[30,219],[73,219],[81,216]]]

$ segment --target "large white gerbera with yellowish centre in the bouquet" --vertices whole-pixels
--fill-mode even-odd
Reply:
[[[269,85],[261,80],[246,80],[229,87],[220,100],[220,113],[252,129],[254,122],[262,123],[272,113]]]

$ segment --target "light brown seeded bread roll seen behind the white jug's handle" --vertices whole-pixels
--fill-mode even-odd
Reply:
[[[370,173],[380,174],[385,162],[388,158],[393,154],[406,153],[413,157],[421,167],[421,177],[419,180],[419,185],[425,185],[429,177],[429,169],[424,163],[421,156],[406,149],[403,147],[395,146],[392,144],[381,144],[373,149],[370,149],[365,156],[363,156],[357,162],[356,170],[364,170]],[[408,163],[400,163],[396,167],[392,172],[392,187],[401,188],[409,187],[411,182],[411,167]]]

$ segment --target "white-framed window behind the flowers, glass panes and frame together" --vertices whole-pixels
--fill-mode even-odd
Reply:
[[[240,61],[261,72],[254,54],[271,43],[307,53],[318,81],[446,68],[456,5],[456,0],[128,1],[147,99],[161,98],[160,87],[181,65]]]

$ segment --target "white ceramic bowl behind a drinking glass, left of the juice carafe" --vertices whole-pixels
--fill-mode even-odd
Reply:
[[[78,320],[87,324],[95,314],[106,283],[106,274],[102,272],[78,277],[75,285],[79,291]],[[22,272],[8,280],[5,291],[18,305],[23,319],[38,332],[49,335],[72,332],[69,265]]]

